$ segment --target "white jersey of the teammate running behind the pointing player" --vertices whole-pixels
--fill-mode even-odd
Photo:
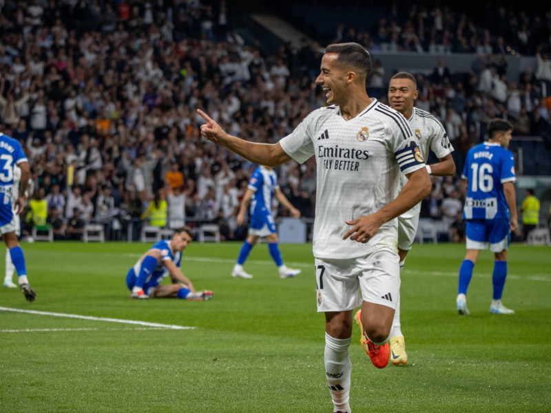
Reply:
[[[440,121],[435,118],[430,113],[418,109],[417,107],[413,108],[413,114],[408,119],[411,129],[415,133],[415,138],[417,138],[417,145],[421,149],[423,159],[426,161],[428,159],[428,149],[432,149],[438,159],[444,158],[453,151],[453,147],[448,139],[446,134],[446,129],[442,126]],[[400,178],[399,189],[402,189],[404,185],[408,182],[406,176]],[[404,218],[413,217],[421,211],[421,202],[415,205],[412,209],[402,214]]]

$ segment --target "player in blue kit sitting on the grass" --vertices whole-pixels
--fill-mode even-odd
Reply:
[[[189,226],[174,230],[172,240],[161,240],[154,244],[126,276],[126,285],[132,290],[130,298],[178,297],[188,300],[207,300],[212,291],[195,290],[191,281],[180,270],[182,251],[193,240],[193,231]],[[160,285],[169,275],[172,284]]]

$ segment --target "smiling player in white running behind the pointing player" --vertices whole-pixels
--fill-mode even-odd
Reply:
[[[428,159],[428,151],[431,149],[437,156],[439,162],[433,165],[426,165],[429,175],[446,176],[455,173],[455,162],[453,162],[453,147],[450,144],[446,130],[442,124],[428,112],[413,107],[417,99],[417,81],[415,77],[407,72],[399,72],[392,76],[388,84],[388,103],[391,107],[400,112],[411,125],[417,145],[421,150],[423,159]],[[407,178],[401,176],[400,189],[406,184]],[[398,217],[398,255],[400,257],[400,271],[404,268],[406,255],[413,245],[417,226],[419,225],[419,213],[421,204],[415,205],[412,209]],[[406,364],[408,354],[406,343],[400,326],[400,300],[398,297],[396,312],[393,321],[393,337],[391,337],[391,361],[395,366]]]

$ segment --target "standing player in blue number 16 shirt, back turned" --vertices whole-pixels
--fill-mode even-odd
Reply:
[[[490,313],[513,314],[501,304],[507,277],[507,248],[511,231],[517,229],[517,200],[514,194],[514,159],[507,149],[512,125],[503,119],[488,124],[488,142],[483,142],[467,154],[463,178],[468,180],[463,218],[467,220],[467,253],[459,268],[457,313],[468,315],[467,288],[481,249],[494,253],[492,275],[493,299]]]

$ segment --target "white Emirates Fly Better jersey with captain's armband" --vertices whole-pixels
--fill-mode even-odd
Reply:
[[[376,99],[348,121],[340,107],[316,109],[282,138],[282,149],[291,158],[302,163],[315,156],[318,164],[315,257],[360,257],[375,244],[396,248],[396,220],[383,224],[367,244],[342,240],[351,229],[344,222],[375,213],[394,200],[400,169],[410,173],[425,166],[415,141],[404,116]]]

